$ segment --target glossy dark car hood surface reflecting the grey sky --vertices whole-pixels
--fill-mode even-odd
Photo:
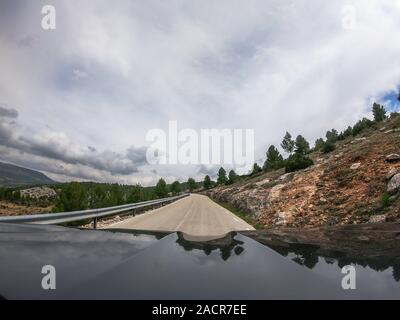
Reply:
[[[344,290],[340,253],[335,259],[315,252],[315,246],[268,246],[235,232],[199,241],[182,233],[0,224],[0,295],[6,299],[400,297],[394,272],[398,266],[376,271],[354,264],[357,289]],[[44,265],[56,269],[56,290],[41,287]]]

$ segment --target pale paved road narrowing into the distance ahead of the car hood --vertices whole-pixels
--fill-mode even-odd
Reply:
[[[191,236],[213,237],[252,226],[208,197],[192,194],[165,207],[112,224],[107,228],[182,231]]]

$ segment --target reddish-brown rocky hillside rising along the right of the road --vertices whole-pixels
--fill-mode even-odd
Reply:
[[[261,173],[208,195],[265,226],[400,221],[400,116],[310,157],[314,165],[302,171]]]

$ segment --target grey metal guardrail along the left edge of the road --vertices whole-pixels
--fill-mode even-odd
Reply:
[[[60,213],[32,214],[23,216],[6,216],[6,217],[0,217],[0,223],[10,222],[10,223],[34,223],[34,224],[62,224],[67,222],[93,219],[94,222],[93,229],[96,229],[97,219],[99,218],[103,218],[106,216],[113,216],[118,213],[129,212],[135,209],[152,207],[159,204],[163,205],[184,198],[188,195],[189,194],[185,193],[179,196],[174,196],[169,198],[124,204],[121,206],[108,207],[108,208],[60,212]]]

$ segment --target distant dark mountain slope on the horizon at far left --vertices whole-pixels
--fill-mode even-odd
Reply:
[[[56,183],[41,172],[0,162],[0,186],[15,187]]]

